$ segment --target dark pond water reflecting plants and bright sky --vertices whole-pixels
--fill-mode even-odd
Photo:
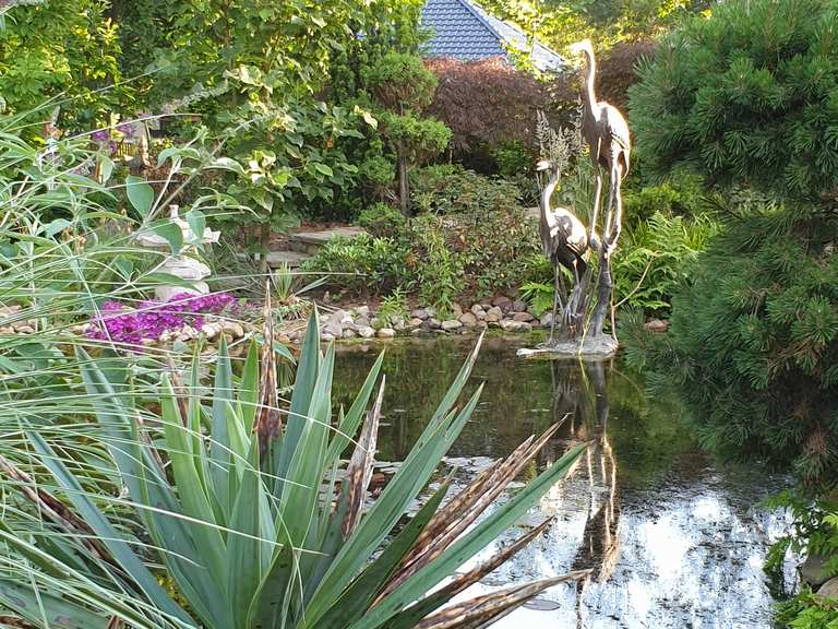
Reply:
[[[472,344],[444,337],[387,345],[379,460],[404,459]],[[788,478],[714,461],[692,438],[681,405],[649,399],[643,380],[619,360],[527,360],[515,356],[519,346],[523,341],[484,341],[470,383],[486,383],[481,402],[450,452],[458,480],[563,417],[526,476],[573,443],[595,446],[572,477],[475,561],[554,518],[547,533],[467,594],[572,569],[592,568],[595,575],[546,591],[493,627],[770,628],[762,566],[786,520],[762,501]],[[381,347],[340,348],[338,400],[351,399]]]

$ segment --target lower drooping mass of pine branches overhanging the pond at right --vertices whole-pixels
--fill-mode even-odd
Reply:
[[[703,442],[836,480],[838,234],[835,209],[740,197],[672,300],[651,351],[653,384],[674,381]]]

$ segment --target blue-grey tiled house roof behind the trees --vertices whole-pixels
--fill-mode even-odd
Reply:
[[[560,71],[565,61],[537,41],[528,41],[518,27],[498,20],[471,0],[427,0],[422,26],[431,31],[424,45],[427,57],[476,61],[489,57],[508,58],[510,48],[529,55],[541,71]]]

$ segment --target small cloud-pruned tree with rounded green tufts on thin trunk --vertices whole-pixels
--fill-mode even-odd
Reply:
[[[402,52],[390,52],[364,72],[380,111],[383,133],[396,151],[398,198],[402,212],[410,207],[408,173],[412,165],[439,155],[451,141],[451,130],[439,120],[422,118],[436,91],[436,76],[422,60]]]

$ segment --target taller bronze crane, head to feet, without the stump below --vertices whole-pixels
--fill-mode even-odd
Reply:
[[[632,140],[628,124],[620,110],[604,100],[597,100],[594,83],[597,74],[594,59],[594,47],[590,39],[583,39],[571,45],[571,52],[585,55],[587,75],[584,94],[584,111],[582,116],[582,134],[590,146],[590,158],[597,171],[597,188],[594,195],[594,212],[590,221],[590,236],[597,228],[600,197],[602,194],[602,173],[609,175],[608,213],[603,225],[602,240],[610,253],[620,237],[623,221],[623,201],[620,195],[620,185],[628,173],[628,156],[632,152]],[[615,207],[615,212],[614,212]],[[614,212],[612,214],[612,212]]]

